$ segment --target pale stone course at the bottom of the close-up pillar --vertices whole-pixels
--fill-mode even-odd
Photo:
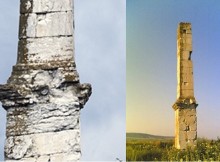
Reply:
[[[55,161],[63,154],[67,156],[66,159],[73,159],[74,156],[77,160],[80,157],[79,139],[79,130],[9,136],[6,140],[5,153],[8,158],[17,160],[23,157],[27,158],[26,160],[38,157],[37,161],[48,161],[55,155]]]

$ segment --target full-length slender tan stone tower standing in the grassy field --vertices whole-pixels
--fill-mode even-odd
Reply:
[[[175,147],[195,147],[197,140],[196,103],[193,87],[192,30],[190,23],[177,29],[177,100],[175,110]]]

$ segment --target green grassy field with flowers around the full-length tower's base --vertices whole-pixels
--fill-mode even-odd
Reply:
[[[174,139],[127,138],[126,161],[220,161],[220,139],[198,139],[194,150],[177,150]]]

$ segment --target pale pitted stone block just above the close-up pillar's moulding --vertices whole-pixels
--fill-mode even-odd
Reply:
[[[47,63],[73,59],[74,42],[72,37],[51,37],[22,39],[18,50],[25,52],[27,63]],[[23,51],[23,49],[26,49]]]

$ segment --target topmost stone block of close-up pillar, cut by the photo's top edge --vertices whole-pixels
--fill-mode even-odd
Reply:
[[[22,14],[64,12],[72,10],[72,0],[21,0],[20,3],[20,12]]]

